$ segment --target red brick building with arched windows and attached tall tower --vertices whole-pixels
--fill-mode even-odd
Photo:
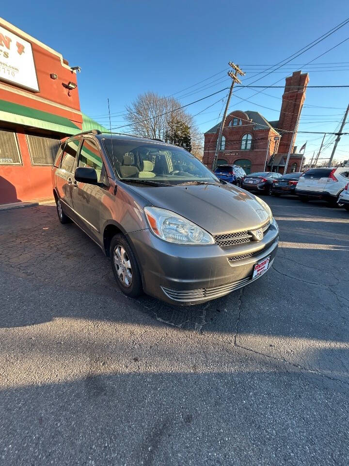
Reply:
[[[242,166],[246,173],[270,170],[272,166],[272,171],[283,173],[291,146],[292,153],[287,172],[301,171],[303,155],[296,152],[296,137],[292,138],[292,133],[301,114],[308,82],[308,73],[301,71],[295,71],[292,76],[286,78],[278,120],[268,121],[260,113],[252,111],[234,110],[227,115],[218,164],[236,164]],[[221,122],[204,134],[203,162],[210,168],[220,126]]]

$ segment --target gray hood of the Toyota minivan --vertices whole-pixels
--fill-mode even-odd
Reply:
[[[254,229],[268,220],[256,197],[233,185],[128,185],[155,207],[175,212],[216,235]]]

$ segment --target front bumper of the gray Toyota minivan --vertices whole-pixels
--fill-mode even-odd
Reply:
[[[128,238],[141,268],[144,292],[171,304],[190,305],[253,282],[254,265],[264,258],[270,257],[270,268],[279,228],[273,220],[261,241],[228,248],[168,243],[148,229],[128,233]]]

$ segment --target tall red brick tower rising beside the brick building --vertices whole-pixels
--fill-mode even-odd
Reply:
[[[297,119],[301,113],[305,100],[305,90],[308,82],[308,73],[302,74],[301,71],[294,71],[292,76],[286,78],[285,92],[283,94],[283,102],[277,129],[289,131],[290,133],[281,132],[282,138],[278,149],[278,152],[281,154],[288,153],[292,142],[292,132],[296,127]],[[293,151],[293,147],[291,148],[291,151]]]

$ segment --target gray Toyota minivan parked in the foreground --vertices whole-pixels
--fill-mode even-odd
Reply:
[[[263,200],[160,141],[80,133],[61,145],[52,183],[60,222],[72,219],[110,256],[132,298],[219,298],[259,278],[277,251],[279,228]]]

